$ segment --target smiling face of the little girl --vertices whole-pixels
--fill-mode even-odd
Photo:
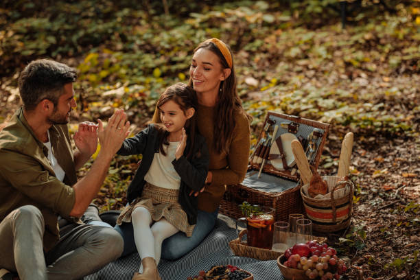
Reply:
[[[161,110],[161,121],[172,137],[180,137],[185,121],[194,115],[194,108],[184,111],[176,102],[170,100],[159,107]]]

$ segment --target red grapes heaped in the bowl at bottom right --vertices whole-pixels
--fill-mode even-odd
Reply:
[[[347,267],[345,261],[337,257],[336,249],[329,247],[328,244],[319,244],[316,240],[299,244],[307,246],[310,249],[309,255],[292,254],[292,248],[286,250],[286,261],[284,266],[297,268],[305,271],[309,279],[316,280],[334,280],[340,279],[340,275],[345,273]]]

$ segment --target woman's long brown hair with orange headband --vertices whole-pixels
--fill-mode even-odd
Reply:
[[[213,54],[218,56],[223,69],[231,69],[231,75],[220,82],[218,96],[219,102],[216,105],[215,110],[217,113],[214,114],[213,139],[218,139],[218,141],[213,141],[213,148],[218,153],[229,152],[229,145],[233,138],[233,128],[235,128],[235,118],[233,117],[235,112],[243,112],[248,117],[248,119],[251,120],[250,115],[246,114],[244,108],[242,108],[242,101],[237,95],[233,55],[231,48],[228,45],[226,45],[226,47],[229,49],[231,54],[232,67],[229,67],[226,58],[224,58],[222,51],[220,51],[218,46],[210,40],[206,40],[205,42],[200,43],[200,45],[194,49],[194,53],[198,51],[198,49],[208,49],[209,51],[213,52]],[[193,86],[191,77],[189,77],[188,85],[191,87]]]

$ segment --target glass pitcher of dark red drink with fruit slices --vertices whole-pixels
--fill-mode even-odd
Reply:
[[[246,242],[248,246],[271,250],[275,209],[260,207],[256,213],[246,213]]]

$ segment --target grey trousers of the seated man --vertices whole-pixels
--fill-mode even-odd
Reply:
[[[0,268],[18,272],[21,280],[80,279],[122,253],[124,242],[114,229],[83,224],[75,227],[44,254],[44,219],[25,205],[0,223]]]

